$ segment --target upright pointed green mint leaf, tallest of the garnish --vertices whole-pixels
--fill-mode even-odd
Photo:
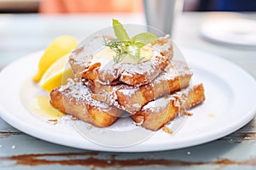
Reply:
[[[119,22],[119,20],[113,19],[113,31],[120,42],[124,42],[127,45],[130,43],[131,39],[125,31],[124,26]]]

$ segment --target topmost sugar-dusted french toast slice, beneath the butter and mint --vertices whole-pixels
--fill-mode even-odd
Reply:
[[[96,45],[103,44],[103,37],[91,42]],[[102,41],[102,42],[101,42]],[[141,63],[114,62],[113,59],[95,59],[87,46],[79,47],[70,54],[69,63],[76,77],[83,77],[94,82],[95,85],[115,85],[123,82],[131,86],[141,86],[152,82],[161,71],[166,68],[173,57],[172,41],[170,36],[160,37],[158,40],[146,45],[153,50],[151,59]]]

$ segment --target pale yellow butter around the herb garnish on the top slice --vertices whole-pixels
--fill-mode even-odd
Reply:
[[[115,52],[110,49],[109,47],[104,47],[100,51],[98,51],[95,55],[94,58],[96,59],[108,59],[108,60],[113,60],[113,56],[115,55]],[[153,49],[149,48],[147,46],[144,46],[143,48],[140,49],[140,55],[141,55],[141,60],[140,62],[148,61],[151,59],[153,55]],[[129,55],[126,55],[124,59],[120,61],[120,63],[131,63],[131,64],[137,64],[138,60],[132,58]]]

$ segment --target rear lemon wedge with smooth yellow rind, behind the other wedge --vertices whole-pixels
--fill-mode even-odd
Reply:
[[[33,77],[34,82],[39,82],[44,75],[44,72],[49,69],[57,59],[63,55],[71,53],[73,48],[78,46],[77,40],[72,36],[57,37],[51,42],[48,48],[45,49],[38,63],[38,73]]]

